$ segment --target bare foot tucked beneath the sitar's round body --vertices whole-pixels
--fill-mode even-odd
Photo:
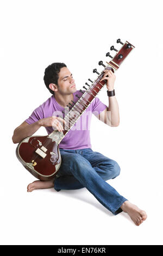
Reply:
[[[27,187],[27,192],[32,192],[33,190],[38,190],[40,188],[51,188],[54,187],[54,179],[48,181],[35,180],[30,183]]]

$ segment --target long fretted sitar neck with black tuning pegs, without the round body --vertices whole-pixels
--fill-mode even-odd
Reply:
[[[112,46],[112,47],[111,48],[114,50],[114,46]],[[108,64],[108,66],[105,66],[102,61],[99,62],[98,64],[103,65],[105,67],[105,69],[115,72],[120,67],[124,58],[127,57],[127,55],[130,53],[130,51],[133,50],[133,48],[134,48],[134,46],[131,45],[128,41],[126,41],[123,44],[123,46],[121,47],[121,49],[117,52],[117,54],[115,55],[114,58],[112,58],[110,56],[110,54],[106,53],[106,56],[109,56],[112,58],[112,60],[110,60],[110,62],[106,62]],[[68,113],[66,113],[66,114],[64,113],[65,114],[64,118],[62,117],[66,121],[66,124],[64,124],[65,130],[62,132],[55,130],[52,133],[50,133],[48,135],[48,138],[51,138],[52,141],[55,141],[58,144],[61,142],[61,140],[66,136],[68,131],[70,131],[71,128],[74,126],[74,124],[76,124],[77,120],[82,116],[84,111],[90,106],[92,101],[95,99],[95,97],[101,91],[101,89],[104,87],[106,80],[103,80],[100,82],[100,80],[102,79],[102,77],[104,75],[104,71],[102,71],[101,74],[99,74],[97,72],[97,70],[94,69],[93,72],[96,72],[98,74],[97,79],[94,82],[91,81],[92,82],[91,86],[89,86],[89,84],[87,84],[87,86],[89,86],[89,88],[84,87],[86,89],[85,92],[80,90],[80,92],[82,93],[82,96],[79,97],[77,95],[79,100],[77,102],[72,101],[72,103],[74,105],[72,105],[72,103],[69,103],[71,106],[71,109],[70,109],[70,111],[68,111]],[[68,107],[68,109],[69,109],[69,107]]]

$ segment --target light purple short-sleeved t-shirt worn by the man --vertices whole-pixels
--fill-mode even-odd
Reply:
[[[73,93],[73,101],[77,102],[79,99],[76,96],[82,96],[82,92],[77,90]],[[72,105],[74,105],[72,103]],[[61,140],[59,144],[59,148],[62,149],[84,149],[84,148],[91,148],[91,141],[90,141],[90,122],[92,113],[95,115],[100,114],[107,106],[102,103],[98,97],[91,102],[89,107],[84,111],[81,117],[76,121],[76,123],[71,127],[71,130],[65,135],[65,137]],[[30,115],[28,119],[25,121],[30,125],[35,123],[36,121],[54,116],[60,116],[64,118],[64,114],[62,111],[65,111],[64,107],[61,107],[59,103],[55,100],[55,96],[52,95],[49,97],[45,102],[42,103],[39,107],[37,107],[33,113]],[[66,121],[66,119],[65,119]],[[52,133],[54,131],[52,126],[45,127],[47,133]]]

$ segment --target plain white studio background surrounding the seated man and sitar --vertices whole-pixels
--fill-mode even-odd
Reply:
[[[162,244],[162,8],[161,1],[1,1],[1,244]],[[81,190],[35,190],[35,180],[16,159],[11,137],[51,96],[45,68],[64,62],[82,89],[99,60],[128,40],[135,49],[116,72],[120,125],[92,117],[91,142],[120,164],[107,181],[147,212],[137,227],[127,214],[114,216]],[[115,52],[111,52],[115,55]],[[99,99],[108,105],[106,88]],[[46,135],[41,127],[37,135]]]

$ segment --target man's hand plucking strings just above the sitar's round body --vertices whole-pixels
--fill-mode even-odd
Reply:
[[[47,118],[42,118],[37,123],[40,126],[48,127],[48,126],[53,126],[53,129],[57,129],[58,131],[63,131],[63,123],[66,124],[66,121],[60,117],[47,117]]]

